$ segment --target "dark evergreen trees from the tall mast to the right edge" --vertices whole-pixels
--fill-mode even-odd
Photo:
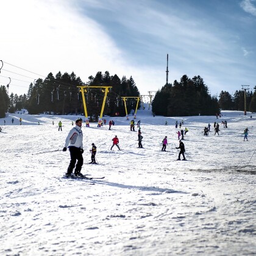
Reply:
[[[246,92],[246,109],[256,112],[256,87],[254,93]],[[190,79],[187,75],[166,84],[155,94],[152,112],[163,116],[216,115],[221,110],[244,110],[244,90],[236,90],[233,96],[221,91],[219,99],[210,96],[208,87],[200,76]]]

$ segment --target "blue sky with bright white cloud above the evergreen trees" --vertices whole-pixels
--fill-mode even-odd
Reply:
[[[256,85],[255,0],[11,0],[0,16],[0,60],[43,76],[109,71],[148,94],[165,85],[169,54],[170,83],[199,75],[212,95]],[[6,63],[0,84],[27,93],[38,76]]]

